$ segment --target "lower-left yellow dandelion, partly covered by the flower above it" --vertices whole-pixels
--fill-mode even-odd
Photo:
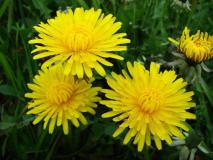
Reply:
[[[56,65],[49,69],[40,70],[33,82],[28,84],[32,93],[26,93],[25,97],[31,98],[28,103],[27,114],[37,115],[33,124],[44,121],[43,128],[49,124],[49,133],[53,133],[55,126],[63,127],[64,134],[69,133],[68,121],[75,127],[81,122],[86,125],[87,120],[83,112],[95,114],[95,102],[99,87],[85,80],[78,80],[72,75],[65,75],[62,65]]]

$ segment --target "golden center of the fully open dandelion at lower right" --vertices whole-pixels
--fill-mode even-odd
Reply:
[[[146,113],[153,113],[162,106],[162,97],[156,91],[145,91],[138,98],[140,109]]]

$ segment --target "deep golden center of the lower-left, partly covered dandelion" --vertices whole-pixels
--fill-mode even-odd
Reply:
[[[53,85],[47,92],[48,100],[53,104],[67,103],[73,95],[73,88],[70,84],[60,83]]]

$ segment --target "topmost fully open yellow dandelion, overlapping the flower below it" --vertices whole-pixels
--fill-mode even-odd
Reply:
[[[65,74],[71,72],[79,78],[84,74],[92,77],[92,69],[105,76],[101,64],[113,65],[106,58],[123,60],[123,57],[112,52],[125,51],[127,46],[123,44],[130,43],[129,39],[124,38],[126,33],[117,33],[121,22],[115,20],[112,14],[104,16],[101,9],[58,11],[55,18],[34,27],[39,35],[29,41],[30,44],[37,44],[32,51],[36,53],[33,58],[51,56],[42,68],[62,62]]]

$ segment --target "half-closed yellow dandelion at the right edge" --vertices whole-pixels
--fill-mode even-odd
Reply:
[[[190,30],[185,27],[180,40],[176,41],[172,38],[169,40],[178,46],[178,49],[186,58],[202,62],[213,57],[213,36],[203,33],[199,30],[194,35],[189,35]]]

